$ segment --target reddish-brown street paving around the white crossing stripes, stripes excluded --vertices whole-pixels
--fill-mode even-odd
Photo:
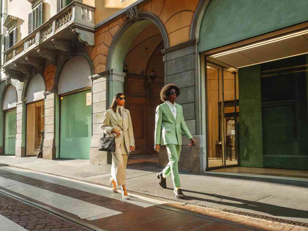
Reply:
[[[217,209],[188,205],[186,203],[167,203],[151,207],[140,207],[124,201],[114,200],[97,194],[88,193],[74,188],[53,184],[43,180],[21,176],[0,170],[0,175],[12,180],[44,188],[68,197],[87,201],[89,203],[108,207],[123,213],[93,221],[80,219],[89,225],[108,231],[202,231],[202,230],[260,230],[260,231],[307,231],[296,225],[287,225],[266,219],[247,217],[241,214],[229,213]],[[2,187],[0,187],[2,188]],[[7,192],[9,189],[2,188]],[[14,192],[10,192],[13,193]],[[15,193],[16,194],[16,193]],[[22,197],[18,194],[17,196]],[[26,198],[26,197],[25,197]],[[29,201],[46,206],[44,201],[26,198]],[[57,208],[52,207],[57,211]],[[65,211],[60,211],[65,213]],[[29,231],[81,231],[88,230],[72,222],[65,221],[45,211],[22,203],[11,197],[0,194],[0,214],[21,225]],[[74,214],[68,214],[74,216]],[[76,215],[75,215],[76,218]],[[263,217],[266,218],[266,217]]]

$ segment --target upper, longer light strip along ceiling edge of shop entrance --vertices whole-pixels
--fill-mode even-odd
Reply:
[[[275,43],[275,42],[278,42],[278,41],[290,39],[290,38],[297,37],[297,36],[307,34],[307,33],[308,33],[308,30],[303,30],[303,31],[299,31],[299,32],[296,32],[296,33],[280,36],[278,38],[269,39],[269,40],[266,40],[266,41],[263,41],[263,42],[254,43],[254,44],[251,44],[251,45],[248,45],[248,46],[245,46],[245,47],[236,48],[236,49],[233,49],[233,50],[230,50],[230,51],[224,51],[224,52],[221,52],[221,53],[218,53],[218,54],[211,55],[210,57],[211,58],[217,58],[217,57],[220,57],[222,55],[229,55],[229,54],[232,54],[232,53],[235,53],[235,52],[238,52],[238,51],[244,51],[244,50],[251,49],[251,48],[254,48],[254,47],[259,47],[259,46],[262,46],[262,45]],[[290,57],[292,57],[292,56],[290,56]]]

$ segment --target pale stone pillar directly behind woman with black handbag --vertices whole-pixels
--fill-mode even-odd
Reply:
[[[90,147],[90,164],[106,164],[110,157],[107,152],[98,151],[99,140],[103,136],[101,125],[107,108],[108,71],[91,75],[92,89],[92,139]],[[108,157],[109,156],[109,157]]]

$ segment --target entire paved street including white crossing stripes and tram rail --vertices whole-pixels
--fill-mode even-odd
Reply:
[[[305,230],[0,165],[0,230]]]

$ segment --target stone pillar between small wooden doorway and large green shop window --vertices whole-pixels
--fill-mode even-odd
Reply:
[[[45,95],[45,124],[44,124],[44,144],[43,159],[55,160],[55,112],[56,112],[56,91],[46,91]]]

